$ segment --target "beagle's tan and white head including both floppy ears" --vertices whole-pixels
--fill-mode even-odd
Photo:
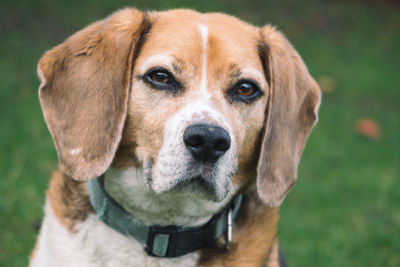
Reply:
[[[260,197],[279,205],[320,101],[273,27],[188,10],[119,11],[48,51],[38,73],[66,174],[135,166],[156,193],[214,201],[257,177]]]

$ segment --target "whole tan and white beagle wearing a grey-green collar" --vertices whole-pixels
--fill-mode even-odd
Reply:
[[[30,266],[280,266],[320,89],[272,26],[120,10],[47,51],[59,171]]]

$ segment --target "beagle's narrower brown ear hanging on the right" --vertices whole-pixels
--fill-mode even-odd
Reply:
[[[267,205],[279,206],[296,183],[301,153],[318,118],[321,92],[283,34],[271,26],[265,26],[261,33],[270,96],[257,190]]]

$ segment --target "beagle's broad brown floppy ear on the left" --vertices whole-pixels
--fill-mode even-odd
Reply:
[[[142,12],[118,11],[72,35],[39,62],[44,118],[61,170],[75,179],[99,176],[112,162],[133,61],[149,25]]]

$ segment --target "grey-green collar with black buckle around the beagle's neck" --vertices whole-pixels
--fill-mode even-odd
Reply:
[[[89,180],[88,189],[90,202],[99,220],[138,241],[153,257],[179,257],[200,248],[211,248],[224,232],[226,246],[229,247],[233,224],[242,202],[242,195],[237,195],[201,226],[148,226],[128,213],[106,192],[102,176]]]

